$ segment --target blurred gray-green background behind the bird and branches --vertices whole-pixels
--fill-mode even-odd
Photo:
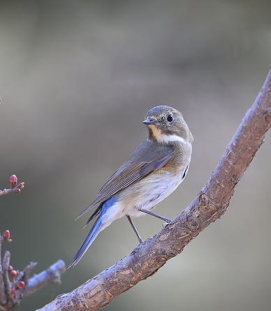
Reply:
[[[71,262],[90,226],[75,217],[147,138],[147,111],[173,106],[195,138],[181,187],[156,208],[175,218],[204,187],[271,64],[270,1],[0,1],[0,198],[13,268]],[[269,310],[271,139],[226,215],[106,310]],[[142,238],[162,222],[135,219]],[[101,232],[78,266],[25,298],[35,310],[133,251],[126,219]]]

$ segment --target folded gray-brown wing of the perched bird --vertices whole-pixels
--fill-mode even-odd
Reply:
[[[134,182],[138,182],[138,180],[145,178],[150,173],[159,170],[159,168],[166,165],[172,157],[173,150],[171,148],[166,148],[166,150],[150,152],[147,156],[145,155],[144,161],[140,161],[139,163],[127,161],[109,178],[107,182],[105,182],[105,185],[101,187],[95,201],[93,201],[87,209],[81,212],[76,219],[84,215],[95,205],[108,200],[108,198],[111,198],[117,194],[117,192],[122,191]]]

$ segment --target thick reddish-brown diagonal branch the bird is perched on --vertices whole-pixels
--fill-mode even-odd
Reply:
[[[168,259],[180,254],[193,238],[224,215],[242,178],[271,125],[271,73],[254,105],[244,116],[217,168],[195,200],[159,234],[131,254],[82,284],[57,296],[43,310],[100,310],[141,280],[152,276]]]

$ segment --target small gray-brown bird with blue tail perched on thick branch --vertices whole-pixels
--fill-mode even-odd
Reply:
[[[172,222],[171,219],[154,214],[152,210],[186,177],[193,136],[182,113],[170,106],[152,108],[142,123],[147,125],[148,138],[105,182],[96,199],[76,218],[98,205],[87,224],[95,217],[96,221],[68,268],[78,264],[98,233],[116,219],[127,217],[139,243],[143,240],[131,217],[149,214],[162,219],[166,224]]]

